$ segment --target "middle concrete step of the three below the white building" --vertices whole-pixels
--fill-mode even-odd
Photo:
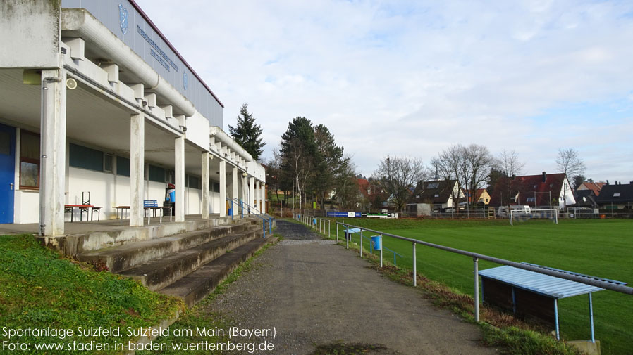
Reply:
[[[263,231],[253,225],[241,233],[227,235],[210,242],[181,250],[166,257],[152,259],[121,272],[121,275],[140,280],[149,290],[160,290],[198,269],[202,264],[220,257],[255,238],[262,238]]]

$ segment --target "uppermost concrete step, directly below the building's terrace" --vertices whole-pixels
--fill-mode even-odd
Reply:
[[[250,221],[94,250],[79,254],[77,259],[92,264],[105,264],[112,273],[120,273],[152,259],[180,252],[226,235],[241,233],[246,228],[253,228]]]

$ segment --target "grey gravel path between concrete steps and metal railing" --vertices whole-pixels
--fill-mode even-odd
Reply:
[[[287,240],[319,238],[305,226],[277,221]],[[419,292],[383,278],[337,245],[274,245],[210,304],[246,329],[275,328],[274,351],[310,354],[322,344],[382,344],[367,354],[496,354],[481,332]],[[261,340],[261,339],[260,339]]]

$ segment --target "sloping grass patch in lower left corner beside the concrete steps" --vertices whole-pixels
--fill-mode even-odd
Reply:
[[[62,259],[39,245],[32,235],[0,235],[0,340],[30,343],[29,351],[2,349],[0,354],[116,354],[116,351],[36,350],[34,344],[87,344],[92,341],[127,345],[125,329],[159,324],[171,318],[183,302],[151,292],[129,278],[96,272],[92,266]],[[6,330],[55,328],[74,335],[4,335]],[[78,328],[120,328],[121,337],[78,336]],[[75,344],[76,345],[76,344]],[[113,349],[113,348],[112,348]],[[120,352],[120,351],[119,351]]]

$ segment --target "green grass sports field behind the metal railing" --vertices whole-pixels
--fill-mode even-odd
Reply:
[[[403,237],[455,247],[514,262],[531,262],[557,269],[586,273],[633,284],[633,221],[572,220],[527,221],[510,226],[508,221],[338,219]],[[332,227],[333,237],[336,230]],[[365,236],[374,233],[364,232]],[[343,228],[339,235],[343,238]],[[358,236],[356,237],[358,240]],[[403,255],[398,266],[411,269],[412,245],[384,238],[384,246]],[[369,241],[364,241],[369,250]],[[393,262],[393,254],[383,252]],[[480,261],[479,269],[498,264]],[[472,259],[459,254],[417,246],[417,271],[472,295]],[[633,296],[613,291],[596,292],[594,323],[602,354],[633,352]],[[565,340],[586,340],[589,333],[588,297],[559,301],[560,332]]]

